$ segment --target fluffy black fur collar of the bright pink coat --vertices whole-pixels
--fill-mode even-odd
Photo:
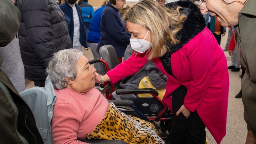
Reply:
[[[197,5],[190,0],[171,2],[165,4],[165,6],[169,9],[176,9],[177,6],[181,6],[181,14],[187,15],[187,19],[183,22],[182,29],[176,34],[176,37],[180,43],[169,43],[168,47],[170,48],[170,51],[160,57],[165,71],[172,75],[171,54],[181,49],[190,41],[190,39],[194,38],[199,32],[201,32],[206,26],[206,22]]]

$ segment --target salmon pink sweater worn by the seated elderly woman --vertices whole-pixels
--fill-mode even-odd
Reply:
[[[52,136],[54,144],[85,144],[78,138],[86,138],[105,117],[107,99],[95,88],[80,93],[68,88],[55,90]]]

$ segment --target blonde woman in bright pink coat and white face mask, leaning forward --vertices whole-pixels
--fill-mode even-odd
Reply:
[[[205,144],[207,127],[220,144],[226,134],[228,66],[198,7],[190,1],[163,6],[141,0],[123,18],[134,53],[95,80],[115,83],[152,59],[168,77],[163,102],[174,114],[171,143]]]

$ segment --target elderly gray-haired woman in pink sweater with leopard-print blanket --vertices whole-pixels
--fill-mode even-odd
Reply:
[[[46,71],[57,96],[52,117],[54,143],[80,143],[81,138],[164,143],[152,123],[119,112],[94,88],[96,69],[82,52],[65,49],[55,53]]]

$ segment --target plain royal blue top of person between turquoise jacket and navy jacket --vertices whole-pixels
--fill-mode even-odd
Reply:
[[[89,31],[87,33],[87,42],[98,43],[100,41],[100,21],[101,15],[106,5],[103,5],[94,12],[94,16],[91,19],[89,25]]]

